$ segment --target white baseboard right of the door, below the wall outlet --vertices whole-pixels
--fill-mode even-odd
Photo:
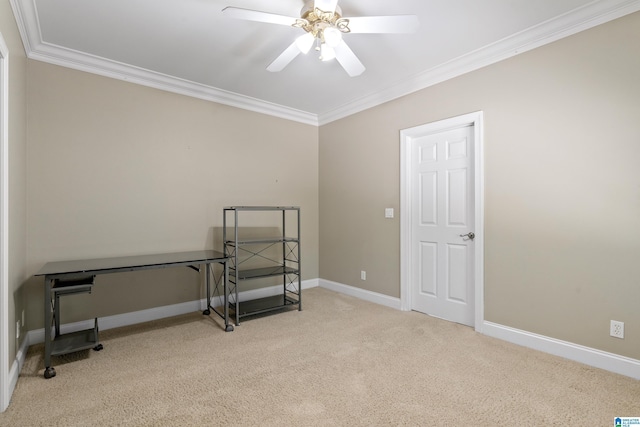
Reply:
[[[520,329],[484,322],[484,334],[493,338],[539,350],[544,353],[564,357],[585,365],[604,369],[616,374],[640,379],[640,360],[620,356],[602,350],[585,347],[567,341],[549,338],[544,335],[522,331]]]

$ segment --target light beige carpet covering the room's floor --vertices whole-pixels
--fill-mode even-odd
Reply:
[[[29,350],[3,426],[613,426],[640,381],[314,288],[231,333],[200,313]]]

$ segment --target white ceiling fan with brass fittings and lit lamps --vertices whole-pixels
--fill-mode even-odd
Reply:
[[[359,76],[365,67],[342,39],[343,34],[412,33],[419,25],[415,15],[344,18],[338,0],[307,0],[299,18],[238,7],[226,7],[222,12],[231,18],[287,25],[305,31],[267,67],[271,72],[282,71],[300,53],[308,53],[315,45],[322,61],[336,59],[349,76]]]

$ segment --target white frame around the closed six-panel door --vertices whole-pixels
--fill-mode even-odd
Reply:
[[[411,271],[413,259],[411,212],[413,203],[411,141],[418,136],[435,134],[460,127],[473,126],[474,132],[474,328],[482,332],[484,324],[484,140],[483,112],[464,114],[400,131],[400,308],[410,311]]]

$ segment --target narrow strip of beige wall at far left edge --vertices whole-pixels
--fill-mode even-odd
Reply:
[[[9,49],[9,366],[28,329],[18,340],[16,321],[23,309],[26,271],[26,63],[27,59],[8,0],[0,1],[0,33]]]

